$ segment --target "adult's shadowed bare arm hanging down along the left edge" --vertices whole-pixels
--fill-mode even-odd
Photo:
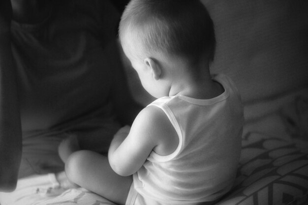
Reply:
[[[22,154],[21,120],[10,39],[10,0],[0,0],[0,192],[15,190]]]

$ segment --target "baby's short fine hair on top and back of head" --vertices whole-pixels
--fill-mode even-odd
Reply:
[[[213,21],[200,0],[131,0],[119,27],[120,39],[130,32],[144,52],[185,58],[191,63],[214,59]]]

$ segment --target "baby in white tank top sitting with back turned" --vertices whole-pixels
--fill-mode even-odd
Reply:
[[[67,177],[120,205],[216,203],[236,176],[244,117],[233,82],[210,75],[216,41],[206,8],[131,0],[119,31],[142,86],[158,99],[118,131],[108,157],[64,141]]]

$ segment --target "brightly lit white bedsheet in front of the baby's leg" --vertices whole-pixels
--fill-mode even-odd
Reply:
[[[54,174],[18,180],[12,193],[0,192],[0,205],[115,205],[84,188],[64,190]]]

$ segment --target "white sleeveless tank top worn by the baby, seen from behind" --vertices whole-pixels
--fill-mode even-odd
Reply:
[[[227,76],[214,80],[225,90],[215,98],[177,95],[149,105],[165,112],[178,133],[179,146],[167,156],[152,151],[133,175],[142,197],[160,204],[193,204],[214,201],[231,189],[241,152],[243,106]]]

